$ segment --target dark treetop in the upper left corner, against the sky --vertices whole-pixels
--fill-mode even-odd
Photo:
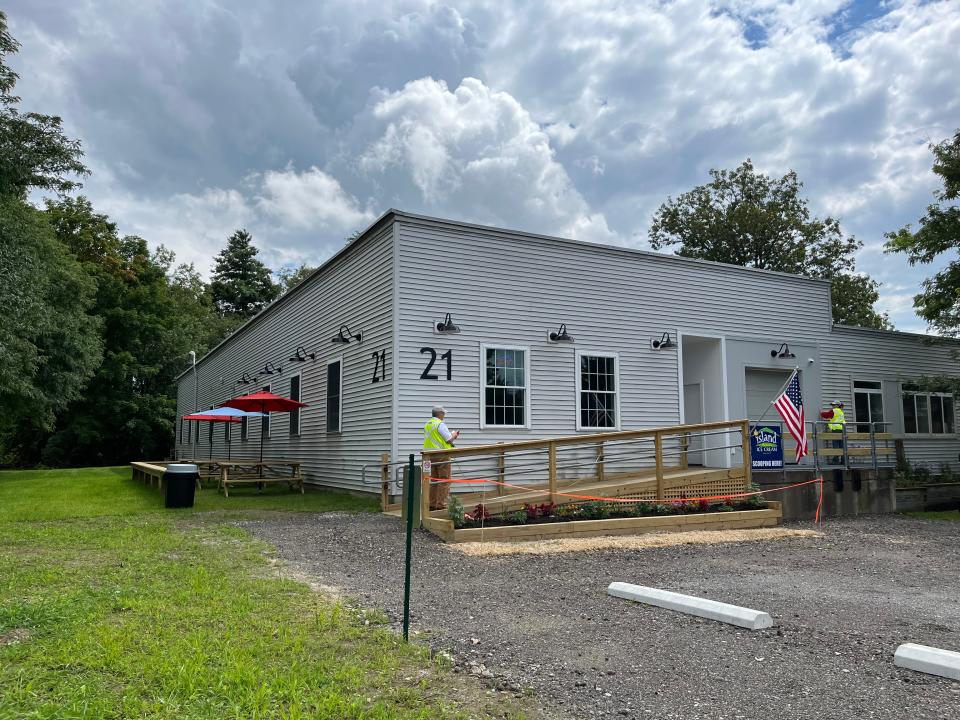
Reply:
[[[6,58],[20,49],[0,11],[0,195],[25,198],[32,188],[67,192],[77,187],[69,175],[86,175],[80,143],[63,132],[55,115],[21,112],[13,94],[17,74]]]

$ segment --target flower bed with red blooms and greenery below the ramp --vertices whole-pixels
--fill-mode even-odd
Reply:
[[[525,504],[521,510],[491,514],[483,504],[465,509],[454,495],[447,505],[447,515],[457,530],[479,527],[504,527],[542,523],[573,522],[577,520],[608,520],[618,518],[665,517],[671,515],[703,515],[708,513],[759,510],[766,503],[757,495],[729,502],[706,500],[677,500],[669,503],[618,503],[591,501],[571,505]]]

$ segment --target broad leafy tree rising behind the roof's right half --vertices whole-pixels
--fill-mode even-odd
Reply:
[[[654,214],[655,250],[677,247],[684,257],[828,279],[834,322],[890,327],[873,308],[878,283],[854,272],[853,256],[863,243],[845,237],[837,220],[810,213],[795,172],[771,178],[748,159],[710,176],[710,183],[668,198]]]

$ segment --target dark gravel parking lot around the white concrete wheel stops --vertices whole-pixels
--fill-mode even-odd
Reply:
[[[244,523],[283,564],[402,609],[384,516]],[[798,526],[802,527],[802,526]],[[806,527],[809,527],[807,525]],[[960,718],[960,683],[895,668],[902,642],[960,650],[960,523],[832,520],[821,538],[467,557],[414,542],[412,623],[492,687],[577,718]],[[766,610],[748,632],[607,596],[635,582]]]

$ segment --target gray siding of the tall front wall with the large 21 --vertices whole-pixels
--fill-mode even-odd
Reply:
[[[421,447],[436,403],[463,429],[463,446],[576,433],[578,350],[618,354],[619,424],[636,429],[680,420],[678,351],[650,347],[663,332],[813,348],[829,332],[829,286],[808,278],[409,215],[398,217],[396,236],[401,454]],[[460,334],[434,332],[447,312]],[[560,323],[575,343],[547,341]],[[770,341],[757,342],[766,366]],[[529,428],[481,429],[481,344],[529,349]],[[441,379],[420,379],[422,347],[453,351],[451,381],[439,357]]]

